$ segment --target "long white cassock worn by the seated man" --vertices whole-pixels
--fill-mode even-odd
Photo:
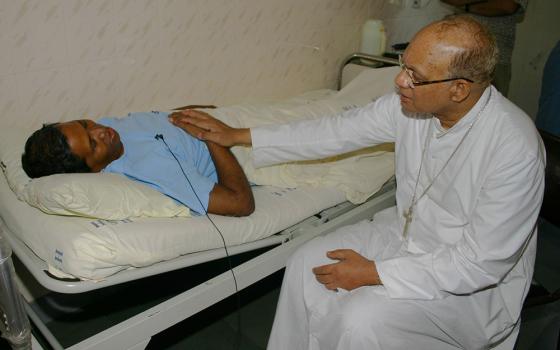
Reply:
[[[407,238],[404,216],[416,205]],[[529,290],[544,189],[544,148],[495,88],[451,129],[405,115],[389,94],[332,118],[251,130],[257,166],[395,142],[397,206],[308,242],[290,259],[269,349],[486,349],[515,340]],[[427,140],[429,138],[429,140]],[[382,286],[333,292],[311,269],[354,249]],[[513,332],[513,333],[512,333]]]

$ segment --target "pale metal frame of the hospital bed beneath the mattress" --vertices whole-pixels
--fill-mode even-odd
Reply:
[[[358,63],[360,65],[364,65],[364,61],[362,61],[362,59],[372,62],[373,66],[378,65],[379,62],[390,65],[398,63],[394,59],[388,59],[385,57],[352,54],[343,61],[339,76],[342,77],[342,72],[347,64],[353,63],[357,59],[360,59],[360,62]],[[341,80],[339,82],[339,87],[340,84]],[[311,216],[269,238],[243,245],[228,247],[230,255],[252,251],[263,247],[273,248],[268,249],[264,253],[257,255],[244,263],[241,263],[240,265],[234,267],[232,271],[228,270],[223,272],[216,277],[213,277],[149,308],[148,310],[138,313],[123,322],[74,344],[68,349],[144,349],[150,342],[153,335],[235,294],[236,289],[238,291],[243,290],[244,288],[284,268],[288,257],[301,244],[318,235],[326,234],[344,225],[348,225],[362,219],[371,218],[378,211],[395,205],[395,191],[396,184],[394,180],[390,180],[378,193],[361,205],[353,205],[349,202],[341,203],[335,207],[323,210],[322,212]],[[0,220],[0,243],[2,243],[2,237],[4,237],[12,247],[14,254],[25,266],[34,280],[49,291],[67,294],[83,293],[106,288],[138,280],[140,278],[158,275],[164,272],[174,271],[203,262],[220,259],[226,256],[226,252],[223,248],[213,249],[205,252],[188,254],[170,261],[160,262],[147,267],[121,271],[101,282],[82,281],[77,279],[61,280],[48,274],[46,263],[39,259],[23,242],[10,232],[4,222]],[[2,265],[3,263],[5,263],[5,265]],[[7,266],[8,268],[2,269],[3,266]],[[9,250],[4,249],[2,254],[0,254],[0,278],[7,281],[15,279],[21,294],[25,295],[26,299],[32,300],[35,292],[28,288],[27,283],[24,283],[19,277],[10,276],[10,274],[13,274],[13,267],[11,266],[10,252]],[[0,290],[0,293],[1,292],[2,291]],[[18,293],[13,291],[13,288],[11,295],[13,295],[13,301],[11,304],[14,306],[23,305],[29,319],[33,322],[36,329],[41,333],[42,337],[44,337],[49,345],[53,349],[63,349],[63,346],[47,328],[45,322],[41,319],[40,315],[34,310],[34,308],[32,308],[28,303],[22,303],[18,299]],[[1,301],[2,300],[0,300],[0,302]],[[2,311],[3,310],[0,310],[0,316],[2,316]],[[6,313],[7,316],[12,316],[11,314],[15,312],[17,312],[17,310],[4,310],[4,313]],[[5,317],[5,319],[10,319],[10,317]],[[6,334],[3,334],[3,337],[7,338],[14,347],[22,342],[28,343],[30,341],[30,332],[28,329],[25,330],[25,326],[28,324],[26,323],[27,320],[18,320],[17,315],[15,316],[15,319],[14,324],[20,325],[18,326],[20,328],[24,328],[23,331],[16,332],[18,334],[13,335],[10,334],[10,330],[8,330],[5,331]],[[0,329],[4,330],[3,328]],[[13,332],[14,329],[11,331]],[[22,337],[25,337],[25,339]]]

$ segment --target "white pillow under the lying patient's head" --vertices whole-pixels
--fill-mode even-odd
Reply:
[[[21,167],[31,132],[0,130],[0,161],[16,196],[47,214],[119,220],[189,216],[189,208],[142,183],[117,174],[59,174],[30,179]]]

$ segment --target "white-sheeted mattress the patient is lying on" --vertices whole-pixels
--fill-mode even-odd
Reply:
[[[289,106],[293,109],[284,113],[282,120],[268,122],[286,121],[300,114],[317,116],[366,104],[392,89],[387,80],[392,81],[394,70],[380,73],[381,78],[358,76],[340,92],[315,93],[304,99],[290,100],[287,104],[276,103],[274,108]],[[328,99],[327,103],[322,103],[325,99]],[[233,110],[235,108],[230,112]],[[262,116],[265,110],[266,106],[261,104],[256,107],[254,115]],[[239,115],[251,115],[251,108],[247,106],[239,111],[242,112]],[[275,111],[277,109],[270,113],[272,119],[279,116]],[[235,113],[232,114],[235,116]],[[235,125],[232,120],[228,122]],[[251,118],[243,121],[245,125],[252,122]],[[259,122],[256,117],[254,122]],[[370,161],[363,157],[360,159]],[[379,159],[379,167],[367,165],[366,169],[368,175],[376,178],[371,186],[377,189],[390,178],[393,169],[393,164],[389,164],[392,161],[388,162],[392,159],[390,154]],[[286,173],[285,169],[279,171]],[[269,237],[323,209],[344,202],[348,197],[341,188],[324,186],[280,188],[264,185],[253,187],[253,192],[256,210],[251,216],[211,216],[228,246]],[[10,232],[45,261],[52,273],[80,279],[101,280],[125,269],[223,246],[222,239],[206,217],[106,221],[47,215],[18,201],[3,176],[0,176],[0,216]]]

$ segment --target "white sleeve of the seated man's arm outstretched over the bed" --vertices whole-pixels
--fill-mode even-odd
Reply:
[[[385,95],[362,108],[313,120],[251,129],[256,167],[321,159],[395,139],[398,95]]]

